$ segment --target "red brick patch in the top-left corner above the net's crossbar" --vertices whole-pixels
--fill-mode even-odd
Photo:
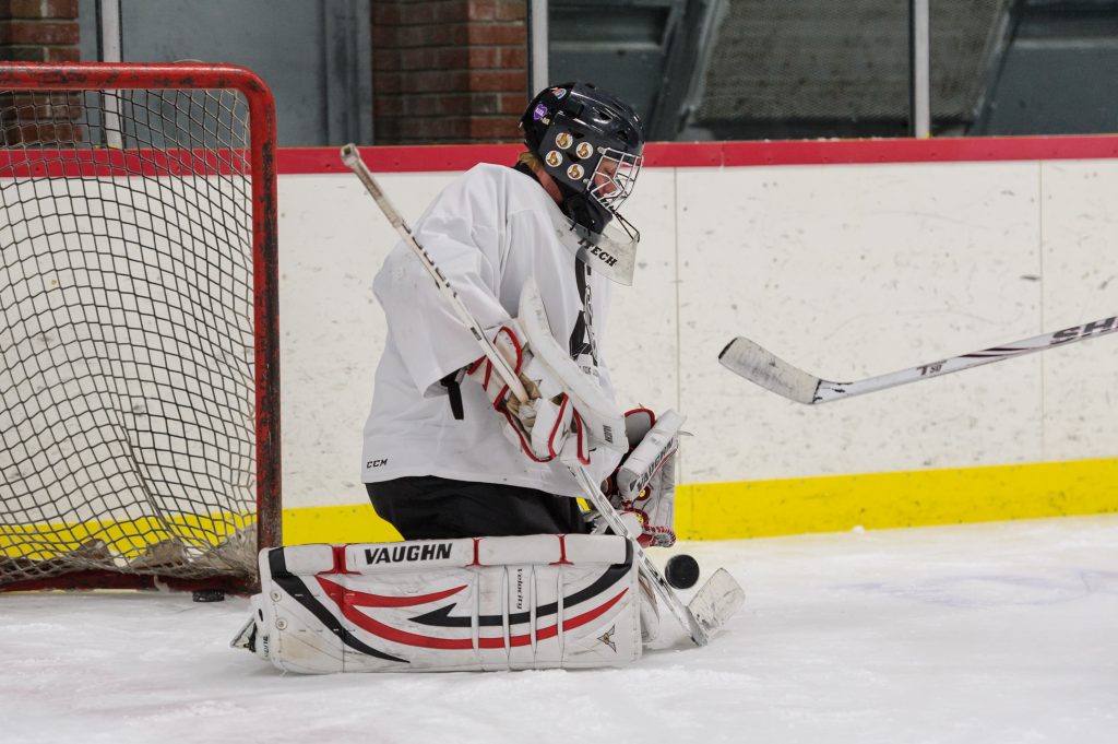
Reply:
[[[77,62],[77,0],[0,0],[0,60]]]

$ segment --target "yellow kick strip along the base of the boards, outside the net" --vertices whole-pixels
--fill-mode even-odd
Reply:
[[[1118,459],[681,484],[681,539],[737,539],[1118,512]],[[284,510],[284,541],[400,539],[369,505]]]

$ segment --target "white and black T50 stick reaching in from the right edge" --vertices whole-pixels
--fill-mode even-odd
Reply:
[[[963,369],[1002,361],[1011,357],[1044,351],[1054,346],[1074,343],[1076,341],[1097,338],[1112,333],[1114,331],[1118,331],[1118,316],[1111,316],[1110,318],[1103,318],[1102,320],[1096,320],[1082,326],[1072,326],[1071,328],[1064,328],[1053,333],[1042,333],[1041,336],[1014,341],[1013,343],[995,346],[980,351],[972,351],[970,354],[964,354],[949,359],[930,361],[910,369],[868,377],[853,383],[833,383],[828,379],[813,377],[803,369],[793,367],[787,361],[774,356],[767,349],[740,336],[722,349],[722,352],[718,355],[718,360],[730,371],[741,375],[767,390],[798,403],[815,405],[818,403],[830,403],[831,401],[842,401],[855,395],[877,393],[878,390],[908,385],[909,383],[918,383],[929,377],[948,375]]]

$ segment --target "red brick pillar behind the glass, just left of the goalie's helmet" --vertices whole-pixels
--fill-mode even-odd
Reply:
[[[372,0],[376,142],[519,141],[525,11],[527,0]]]

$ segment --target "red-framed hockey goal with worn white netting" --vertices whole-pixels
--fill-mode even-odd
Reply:
[[[274,140],[241,68],[0,64],[0,590],[280,544]]]

